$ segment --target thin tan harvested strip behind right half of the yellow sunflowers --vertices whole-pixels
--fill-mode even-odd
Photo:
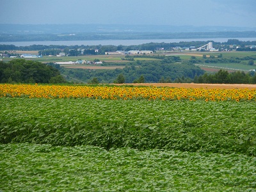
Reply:
[[[204,83],[125,83],[134,86],[168,86],[177,88],[220,88],[220,89],[233,89],[233,88],[248,88],[256,89],[256,84],[204,84]],[[120,85],[120,84],[119,84]]]

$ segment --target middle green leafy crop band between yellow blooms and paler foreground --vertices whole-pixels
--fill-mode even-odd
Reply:
[[[0,143],[256,156],[255,102],[0,98]]]

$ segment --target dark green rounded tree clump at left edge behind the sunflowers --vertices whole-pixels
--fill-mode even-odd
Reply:
[[[57,68],[38,61],[0,61],[0,83],[66,83]]]

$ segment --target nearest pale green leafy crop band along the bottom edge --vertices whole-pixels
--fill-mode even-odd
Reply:
[[[0,145],[1,191],[255,191],[256,158],[239,154]]]

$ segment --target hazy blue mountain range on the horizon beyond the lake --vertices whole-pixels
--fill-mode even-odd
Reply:
[[[180,33],[256,31],[252,28],[223,26],[165,26],[125,24],[0,24],[0,34],[65,34],[65,33]]]

